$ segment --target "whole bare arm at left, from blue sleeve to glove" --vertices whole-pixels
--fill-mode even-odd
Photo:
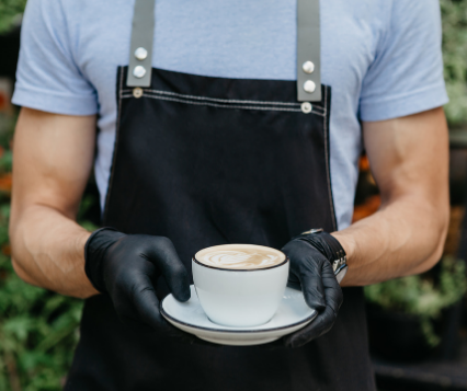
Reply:
[[[92,166],[95,116],[23,108],[14,135],[10,219],[13,267],[62,295],[96,294],[84,274],[90,233],[75,221]]]

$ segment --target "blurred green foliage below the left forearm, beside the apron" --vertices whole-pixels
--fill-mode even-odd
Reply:
[[[1,159],[0,159],[1,163]],[[78,342],[82,300],[22,281],[9,256],[10,206],[0,206],[0,390],[61,390]],[[88,229],[95,229],[84,222]]]

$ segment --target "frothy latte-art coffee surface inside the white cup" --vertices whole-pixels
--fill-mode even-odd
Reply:
[[[285,261],[281,251],[253,244],[225,244],[204,249],[195,258],[207,265],[229,269],[254,269],[278,265]]]

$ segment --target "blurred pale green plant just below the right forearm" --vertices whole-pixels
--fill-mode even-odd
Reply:
[[[440,337],[432,321],[458,302],[466,290],[465,262],[446,256],[441,261],[438,281],[426,275],[408,276],[365,287],[365,297],[384,310],[420,317],[426,342],[436,346]]]

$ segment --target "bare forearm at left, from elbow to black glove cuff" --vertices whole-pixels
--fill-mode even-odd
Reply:
[[[12,215],[13,267],[26,283],[62,295],[98,294],[84,273],[84,244],[90,232],[48,206],[34,205]]]

